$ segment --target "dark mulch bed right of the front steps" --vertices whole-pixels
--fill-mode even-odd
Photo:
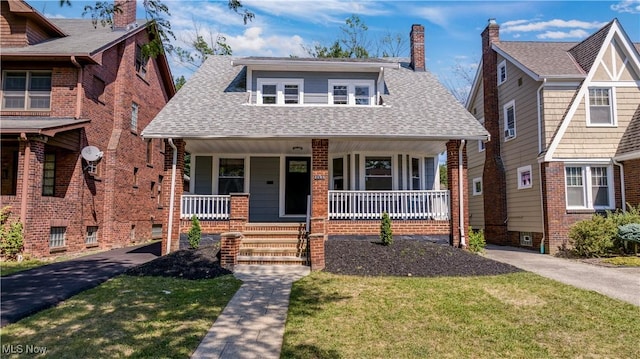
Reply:
[[[521,272],[463,249],[425,240],[396,239],[390,246],[371,240],[328,240],[325,271],[365,276],[477,276]]]

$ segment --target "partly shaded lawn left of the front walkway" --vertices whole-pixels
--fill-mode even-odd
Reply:
[[[240,284],[123,275],[2,328],[0,339],[46,347],[48,358],[187,358]]]

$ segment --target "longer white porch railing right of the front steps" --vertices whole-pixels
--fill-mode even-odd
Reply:
[[[329,219],[449,219],[449,191],[329,191]]]

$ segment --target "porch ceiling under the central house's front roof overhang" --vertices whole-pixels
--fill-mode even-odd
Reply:
[[[311,155],[310,139],[203,139],[186,140],[189,153]],[[438,154],[446,141],[398,139],[329,139],[329,152],[394,152]],[[301,149],[300,149],[301,148]]]

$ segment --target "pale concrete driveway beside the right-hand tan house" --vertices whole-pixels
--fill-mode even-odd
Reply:
[[[640,268],[637,267],[603,267],[496,245],[487,245],[486,257],[640,306]]]

